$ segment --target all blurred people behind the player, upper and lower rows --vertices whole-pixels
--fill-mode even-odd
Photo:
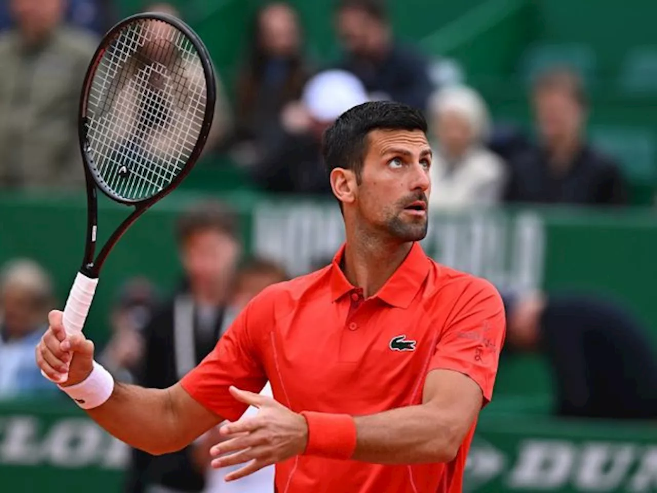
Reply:
[[[143,10],[180,16],[164,2]],[[0,6],[0,190],[82,185],[80,86],[115,11],[102,0]],[[429,122],[432,208],[629,203],[618,163],[587,139],[591,101],[568,66],[549,67],[533,81],[532,131],[507,132],[476,87],[434,76],[432,56],[440,53],[397,39],[380,0],[338,0],[331,21],[344,55],[323,66],[307,57],[304,26],[292,5],[271,1],[258,9],[246,26],[251,38],[235,87],[227,90],[217,74],[206,153],[229,156],[266,193],[329,197],[323,131],[352,106],[392,99],[419,108]],[[242,239],[225,206],[201,204],[184,214],[176,239],[185,277],[175,293],[161,298],[147,279],[130,279],[116,298],[112,337],[100,360],[122,381],[175,383],[210,352],[252,296],[286,279],[267,259],[240,263]],[[545,293],[505,293],[505,304],[507,354],[540,351],[553,365],[556,413],[657,415],[657,367],[645,328],[631,315],[606,300]],[[34,365],[51,306],[51,281],[37,264],[18,259],[0,271],[0,397],[57,392]],[[625,368],[641,389],[628,390],[605,367]],[[158,458],[135,451],[126,491],[142,492],[148,484],[168,492],[214,491],[205,461],[215,438]]]

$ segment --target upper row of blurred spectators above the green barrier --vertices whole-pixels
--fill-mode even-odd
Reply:
[[[0,187],[81,185],[79,87],[115,10],[100,0],[10,0],[0,14],[0,63],[9,68],[0,72]],[[143,10],[181,16],[166,2]],[[234,101],[217,74],[206,153],[230,156],[254,187],[329,195],[319,153],[323,130],[351,106],[393,99],[430,122],[435,208],[629,201],[618,164],[587,140],[591,107],[577,72],[553,66],[539,74],[528,101],[534,128],[509,135],[475,87],[436,78],[440,53],[399,41],[383,1],[336,1],[331,21],[342,59],[318,64],[307,56],[294,7],[264,3],[247,26]]]

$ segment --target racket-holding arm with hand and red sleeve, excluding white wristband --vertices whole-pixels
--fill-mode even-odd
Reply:
[[[237,402],[228,387],[235,384],[259,392],[267,381],[253,356],[246,312],[181,382],[165,389],[114,383],[110,397],[87,413],[119,440],[153,455],[184,448],[223,421],[220,415],[237,419],[247,406]],[[58,310],[49,314],[49,323],[35,350],[37,364],[54,381],[68,371],[62,387],[87,381],[93,369],[93,342],[81,333],[67,336]]]

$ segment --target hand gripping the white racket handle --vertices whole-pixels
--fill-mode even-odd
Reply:
[[[66,335],[62,312],[48,314],[49,327],[35,348],[37,365],[62,387],[80,383],[93,369],[93,342],[81,333]],[[68,371],[68,380],[61,382]]]

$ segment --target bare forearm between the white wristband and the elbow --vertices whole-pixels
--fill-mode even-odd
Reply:
[[[102,406],[89,416],[122,442],[150,454],[173,452],[187,445],[177,436],[168,389],[116,383]]]

